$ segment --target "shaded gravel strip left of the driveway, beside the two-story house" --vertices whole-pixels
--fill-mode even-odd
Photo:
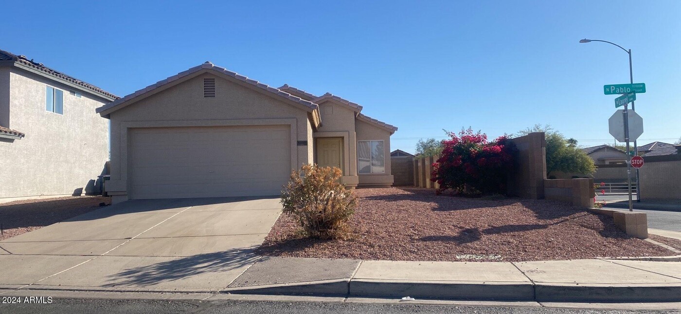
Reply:
[[[16,200],[0,204],[0,240],[49,226],[99,208],[99,203],[111,204],[103,196],[67,196],[34,200]]]

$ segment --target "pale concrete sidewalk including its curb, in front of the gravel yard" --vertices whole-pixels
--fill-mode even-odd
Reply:
[[[329,272],[311,280],[323,269]],[[678,302],[681,262],[394,262],[262,258],[229,294],[537,302]]]

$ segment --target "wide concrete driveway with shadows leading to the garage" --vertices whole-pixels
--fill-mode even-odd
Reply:
[[[279,198],[262,197],[130,200],[104,207],[0,241],[0,294],[56,286],[219,290],[257,260],[253,249],[279,213]]]

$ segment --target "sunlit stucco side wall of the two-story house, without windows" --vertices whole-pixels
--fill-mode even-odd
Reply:
[[[99,192],[95,180],[108,160],[108,120],[95,108],[106,101],[83,91],[82,98],[72,96],[74,88],[14,67],[3,71],[10,84],[9,123],[3,126],[26,137],[0,141],[0,202]],[[64,91],[63,115],[46,111],[46,85]]]

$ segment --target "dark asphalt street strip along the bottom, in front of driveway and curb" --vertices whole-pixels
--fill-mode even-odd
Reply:
[[[681,311],[621,311],[602,309],[556,309],[548,307],[462,307],[456,305],[364,304],[349,302],[271,302],[271,301],[161,301],[108,299],[54,299],[51,304],[1,304],[0,313],[262,313],[262,314],[343,314],[343,313],[681,313]]]

